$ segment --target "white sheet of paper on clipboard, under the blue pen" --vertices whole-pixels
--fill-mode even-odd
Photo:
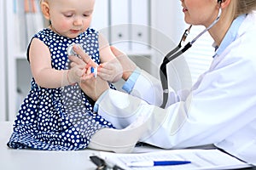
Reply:
[[[165,150],[140,154],[116,154],[101,152],[100,156],[111,164],[125,169],[224,169],[249,167],[247,163],[225,154],[220,150]],[[189,164],[157,167],[127,167],[131,161],[191,161]]]

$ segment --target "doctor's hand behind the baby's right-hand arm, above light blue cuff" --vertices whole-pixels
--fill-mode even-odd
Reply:
[[[133,71],[136,70],[137,65],[123,52],[121,52],[118,48],[110,47],[112,53],[119,60],[119,63],[123,67],[123,79],[126,81],[132,74]]]

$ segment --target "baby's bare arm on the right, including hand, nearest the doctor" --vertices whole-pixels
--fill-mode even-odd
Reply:
[[[108,40],[99,34],[99,48],[101,65],[98,68],[98,76],[108,82],[118,82],[123,75],[123,68],[119,60],[113,55]]]

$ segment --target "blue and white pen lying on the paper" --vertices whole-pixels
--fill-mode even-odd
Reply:
[[[128,167],[154,167],[154,166],[173,166],[191,163],[191,161],[131,161]]]

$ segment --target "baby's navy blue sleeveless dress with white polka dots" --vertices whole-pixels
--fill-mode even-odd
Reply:
[[[51,64],[56,70],[68,69],[67,47],[73,43],[82,44],[84,51],[100,63],[98,33],[93,29],[70,39],[46,28],[33,38],[49,47]],[[84,149],[99,129],[113,128],[110,122],[92,112],[93,105],[78,84],[41,88],[32,78],[32,88],[20,106],[8,146],[36,150]]]

